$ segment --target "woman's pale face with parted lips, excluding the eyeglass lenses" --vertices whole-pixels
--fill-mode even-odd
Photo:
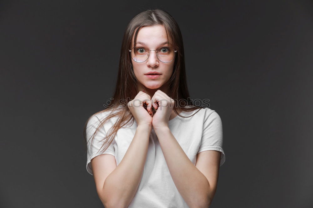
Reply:
[[[132,38],[131,48],[133,46],[134,36]],[[141,43],[138,43],[141,42]],[[136,46],[144,46],[149,50],[157,50],[162,46],[170,46],[167,43],[166,30],[163,25],[141,27],[137,34]],[[131,49],[130,48],[130,49]],[[174,61],[163,63],[156,57],[156,51],[150,51],[149,58],[145,62],[135,62],[131,59],[134,74],[137,80],[149,89],[162,87],[171,77],[174,67]],[[158,72],[161,75],[151,78],[146,75],[149,72]]]

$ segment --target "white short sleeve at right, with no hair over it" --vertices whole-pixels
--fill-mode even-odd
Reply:
[[[219,166],[222,166],[225,162],[222,120],[216,111],[210,111],[212,110],[206,109],[206,114],[209,115],[205,115],[204,117],[203,132],[198,153],[207,150],[220,151],[222,154]]]

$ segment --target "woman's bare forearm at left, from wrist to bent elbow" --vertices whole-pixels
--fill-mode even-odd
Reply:
[[[129,205],[141,181],[149,145],[150,126],[138,126],[120,164],[105,179],[103,193],[114,207]],[[122,138],[121,138],[122,139]]]

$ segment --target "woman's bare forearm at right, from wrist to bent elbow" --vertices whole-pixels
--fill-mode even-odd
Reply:
[[[177,190],[189,207],[208,207],[207,178],[190,161],[168,127],[154,129]]]

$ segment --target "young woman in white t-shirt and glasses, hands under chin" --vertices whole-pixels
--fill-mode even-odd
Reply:
[[[167,12],[129,22],[111,100],[84,132],[103,205],[208,207],[225,161],[222,122],[189,98],[182,35]]]

